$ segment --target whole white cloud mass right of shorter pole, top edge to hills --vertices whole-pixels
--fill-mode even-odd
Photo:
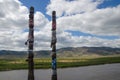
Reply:
[[[120,5],[97,9],[104,0],[51,0],[47,14],[57,13],[58,48],[81,46],[120,47],[119,38],[110,40],[91,36],[73,36],[66,30],[97,36],[120,34]],[[64,5],[64,6],[63,6]],[[114,43],[114,44],[113,44]]]

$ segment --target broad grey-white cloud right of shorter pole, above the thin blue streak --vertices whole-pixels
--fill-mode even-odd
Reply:
[[[77,30],[95,35],[119,36],[120,5],[113,8],[96,9],[84,14],[60,17],[58,29]]]

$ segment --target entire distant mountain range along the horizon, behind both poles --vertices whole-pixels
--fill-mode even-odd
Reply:
[[[81,55],[114,55],[120,54],[120,48],[110,47],[67,47],[57,50],[57,56],[59,57],[73,57]],[[0,58],[24,58],[27,57],[27,51],[9,51],[1,50]],[[50,50],[34,51],[35,57],[50,57]]]

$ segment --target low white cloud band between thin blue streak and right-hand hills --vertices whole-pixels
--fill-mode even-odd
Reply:
[[[120,47],[120,39],[108,40],[91,36],[72,36],[68,32],[58,35],[57,47]]]

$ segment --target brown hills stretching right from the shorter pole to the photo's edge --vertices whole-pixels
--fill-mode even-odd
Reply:
[[[67,47],[57,50],[59,56],[72,57],[72,56],[83,56],[83,55],[115,55],[120,54],[120,48],[111,47]]]

